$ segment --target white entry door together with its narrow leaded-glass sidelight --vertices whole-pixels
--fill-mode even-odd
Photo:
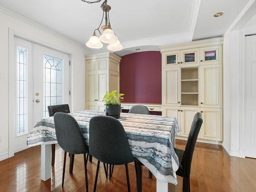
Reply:
[[[15,38],[14,153],[27,148],[34,125],[48,105],[69,103],[69,55]]]

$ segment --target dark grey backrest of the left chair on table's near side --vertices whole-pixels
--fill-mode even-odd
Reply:
[[[82,131],[77,121],[69,114],[55,113],[54,124],[58,144],[71,154],[89,153]]]

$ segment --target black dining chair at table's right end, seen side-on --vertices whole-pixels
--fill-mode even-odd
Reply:
[[[178,176],[183,177],[183,186],[182,186],[183,192],[190,191],[189,177],[190,177],[191,162],[192,162],[195,145],[197,142],[198,134],[200,132],[202,123],[203,123],[202,114],[197,113],[191,125],[185,151],[179,148],[174,148],[180,163],[179,169],[177,170],[176,174]]]

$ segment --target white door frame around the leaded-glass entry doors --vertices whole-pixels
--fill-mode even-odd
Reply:
[[[15,49],[15,45],[14,45],[14,37],[20,38],[20,39],[24,39],[27,41],[32,42],[32,49],[33,49],[33,43],[36,43],[37,45],[41,45],[65,54],[68,54],[70,57],[70,61],[71,63],[73,63],[73,54],[74,53],[70,53],[69,51],[67,51],[64,48],[59,48],[58,46],[49,44],[48,42],[41,40],[41,39],[35,39],[33,37],[31,37],[30,35],[26,35],[26,34],[22,34],[18,31],[15,31],[11,28],[9,28],[9,60],[8,60],[8,137],[9,137],[9,142],[8,142],[8,158],[13,157],[14,156],[14,140],[13,138],[15,137],[15,123],[13,122],[13,117],[15,117],[15,103],[13,103],[12,101],[15,100],[15,90],[14,85],[15,85],[15,73],[13,71],[13,65],[15,62],[15,53],[14,53],[14,49]],[[33,51],[33,50],[32,50]],[[33,57],[33,55],[32,55]],[[33,59],[32,59],[33,60]],[[70,91],[71,91],[71,95],[69,98],[69,103],[70,103],[70,110],[73,111],[73,66],[70,66]]]

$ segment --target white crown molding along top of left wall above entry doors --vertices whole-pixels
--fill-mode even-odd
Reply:
[[[65,35],[62,35],[62,34],[56,32],[54,30],[51,30],[51,29],[49,29],[49,28],[47,28],[45,26],[37,24],[36,22],[33,22],[33,20],[30,20],[30,19],[28,19],[28,18],[26,18],[26,17],[24,17],[24,16],[22,16],[20,14],[17,14],[17,13],[15,13],[15,12],[5,8],[5,7],[0,6],[0,12],[6,14],[8,16],[14,17],[14,18],[16,18],[16,19],[18,19],[18,20],[20,20],[20,21],[22,21],[22,22],[24,22],[24,23],[26,23],[28,25],[31,25],[31,26],[39,29],[39,30],[42,30],[42,31],[50,33],[50,34],[52,34],[54,36],[57,36],[58,38],[61,38],[61,39],[66,40],[66,41],[69,41],[73,45],[76,45],[76,46],[78,46],[78,47],[80,47],[80,48],[82,48],[82,49],[84,49],[86,51],[89,50],[85,45],[80,44],[80,42],[75,41],[75,40],[73,40],[73,39],[71,39],[71,38],[69,38],[69,37],[67,37]]]

